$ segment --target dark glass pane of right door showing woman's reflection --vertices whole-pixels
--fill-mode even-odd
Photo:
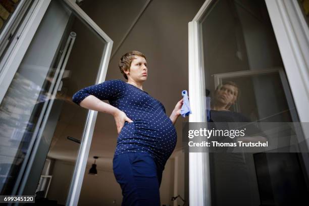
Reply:
[[[209,122],[299,122],[265,1],[213,1],[200,29]],[[209,153],[212,205],[308,204],[304,156]]]

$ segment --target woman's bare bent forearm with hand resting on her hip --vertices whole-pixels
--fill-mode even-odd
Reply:
[[[117,126],[117,132],[120,133],[121,129],[124,126],[124,123],[127,122],[133,122],[130,118],[127,117],[127,115],[119,110],[118,108],[115,108],[109,104],[107,104],[104,101],[101,101],[97,97],[93,95],[89,95],[86,98],[84,98],[80,104],[81,107],[86,108],[88,110],[95,110],[98,112],[104,112],[108,113],[114,116],[116,126]]]

